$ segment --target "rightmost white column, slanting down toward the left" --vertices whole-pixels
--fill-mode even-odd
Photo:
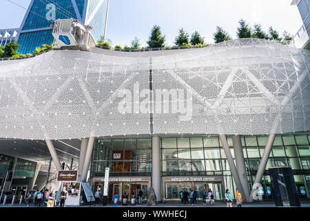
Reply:
[[[260,160],[260,165],[258,166],[258,171],[256,173],[255,181],[253,184],[254,188],[252,188],[251,194],[249,195],[249,202],[254,201],[253,195],[254,193],[256,195],[256,191],[258,191],[258,186],[260,185],[260,182],[262,182],[262,175],[264,175],[265,173],[266,165],[269,159],[269,155],[270,155],[275,137],[276,137],[276,134],[274,133],[271,133],[268,136],[267,144],[265,146],[264,153],[262,153],[262,160]]]

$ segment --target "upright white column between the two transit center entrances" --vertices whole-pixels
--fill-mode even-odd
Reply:
[[[161,139],[152,137],[152,187],[156,194],[156,201],[161,201]]]

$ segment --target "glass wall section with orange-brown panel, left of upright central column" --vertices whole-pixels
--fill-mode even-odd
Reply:
[[[111,175],[150,175],[152,172],[151,139],[96,140],[92,153],[91,177]]]

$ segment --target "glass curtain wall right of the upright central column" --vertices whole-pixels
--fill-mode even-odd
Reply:
[[[272,198],[268,169],[272,166],[291,166],[300,198],[310,198],[310,133],[277,135],[266,172],[262,179],[263,198]],[[254,183],[267,135],[241,136],[249,187]],[[227,136],[231,154],[234,147]],[[223,175],[225,189],[236,191],[222,144],[217,135],[161,139],[162,175]]]

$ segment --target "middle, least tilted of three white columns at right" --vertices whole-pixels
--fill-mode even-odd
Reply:
[[[243,187],[243,191],[245,191],[245,195],[243,199],[245,201],[249,198],[249,182],[247,180],[247,171],[245,169],[245,157],[243,155],[242,142],[240,135],[232,135],[232,140],[234,144],[234,153],[236,157],[236,168],[238,171],[238,175]]]

